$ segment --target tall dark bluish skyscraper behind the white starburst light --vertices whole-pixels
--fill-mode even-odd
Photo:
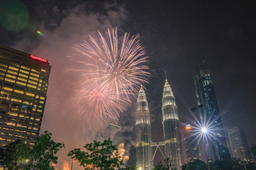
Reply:
[[[212,130],[212,139],[208,140],[208,143],[205,144],[206,157],[208,161],[228,158],[228,146],[213,88],[213,80],[210,77],[210,70],[206,65],[198,65],[195,69],[193,79],[196,86],[198,106],[203,105],[203,107],[199,108],[201,122],[208,123],[206,126]]]

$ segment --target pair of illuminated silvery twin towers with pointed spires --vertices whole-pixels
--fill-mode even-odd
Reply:
[[[178,108],[174,94],[167,79],[164,85],[162,99],[162,114],[164,126],[164,145],[166,158],[171,160],[174,168],[181,169],[183,164],[183,149],[181,144],[180,121],[178,120]],[[151,125],[149,106],[146,101],[146,94],[141,87],[137,99],[137,118],[136,118],[136,164],[137,169],[146,170],[153,168],[152,146],[151,146]]]

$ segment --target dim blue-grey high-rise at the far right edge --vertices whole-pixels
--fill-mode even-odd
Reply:
[[[228,130],[233,157],[246,162],[252,162],[252,156],[249,151],[248,143],[243,128],[232,128]]]

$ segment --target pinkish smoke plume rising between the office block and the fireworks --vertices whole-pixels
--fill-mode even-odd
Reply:
[[[80,117],[80,108],[75,105],[79,100],[75,96],[75,82],[80,77],[66,72],[74,67],[74,63],[66,57],[72,53],[73,45],[82,42],[88,35],[95,34],[97,30],[106,31],[107,28],[122,26],[122,22],[127,18],[124,6],[104,4],[104,8],[105,14],[88,13],[84,11],[84,6],[75,6],[60,13],[58,7],[53,6],[54,16],[58,20],[51,18],[50,21],[42,22],[39,30],[44,37],[35,42],[25,35],[26,38],[12,46],[17,50],[46,58],[52,67],[41,133],[48,130],[53,133],[53,140],[65,143],[65,149],[58,153],[59,160],[55,169],[70,169],[71,159],[67,154],[71,149],[82,148],[86,143],[95,140],[95,135],[100,140],[105,138],[99,135],[99,131],[102,132],[106,127],[101,130],[86,128],[87,120]],[[60,16],[64,17],[60,20]],[[46,15],[46,18],[48,17]],[[78,162],[74,162],[73,169],[81,169]]]

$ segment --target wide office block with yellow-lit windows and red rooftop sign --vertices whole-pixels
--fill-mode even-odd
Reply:
[[[38,137],[46,103],[48,60],[0,45],[0,145]]]

